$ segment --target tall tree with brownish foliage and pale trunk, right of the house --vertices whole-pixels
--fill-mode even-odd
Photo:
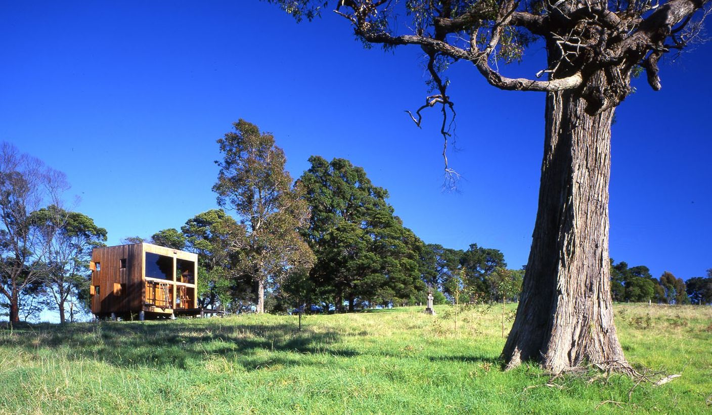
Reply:
[[[256,312],[264,312],[267,283],[291,268],[311,268],[313,253],[298,233],[309,220],[309,210],[292,188],[284,169],[286,157],[271,134],[245,120],[234,123],[217,142],[222,161],[213,190],[219,206],[232,210],[245,225],[231,248],[241,253],[244,273],[257,285]]]

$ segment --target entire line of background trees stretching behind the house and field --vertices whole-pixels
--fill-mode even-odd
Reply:
[[[293,181],[274,137],[244,120],[218,140],[223,159],[213,190],[219,209],[147,241],[199,255],[199,304],[230,312],[352,312],[454,302],[516,301],[524,269],[472,243],[466,250],[424,243],[347,159],[309,158]],[[0,149],[0,312],[11,321],[56,310],[61,322],[88,313],[88,262],[107,232],[63,208],[61,172]],[[712,268],[687,283],[669,272],[610,261],[614,301],[712,303]]]

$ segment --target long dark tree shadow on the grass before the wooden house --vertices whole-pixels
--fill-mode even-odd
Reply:
[[[115,367],[188,369],[221,358],[247,370],[271,364],[310,364],[298,354],[353,357],[358,353],[331,346],[338,332],[296,331],[290,324],[256,324],[213,319],[206,322],[97,322],[31,325],[0,331],[0,347],[31,354],[44,350],[66,359],[90,359]],[[291,352],[275,354],[265,352]]]

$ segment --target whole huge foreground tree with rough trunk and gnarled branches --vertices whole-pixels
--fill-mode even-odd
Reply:
[[[331,1],[269,0],[296,19]],[[546,94],[544,156],[523,293],[503,358],[559,372],[585,362],[629,367],[609,294],[608,184],[614,111],[640,68],[661,88],[658,62],[700,36],[712,0],[335,0],[333,7],[367,45],[414,45],[427,56],[434,94],[412,115],[454,108],[441,71],[472,65],[503,90]],[[407,16],[401,16],[407,14]],[[400,33],[398,33],[400,32]],[[511,78],[500,63],[535,45],[547,63],[531,78]],[[447,167],[446,167],[447,168]]]

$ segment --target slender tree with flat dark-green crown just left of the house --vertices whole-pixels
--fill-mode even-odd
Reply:
[[[43,285],[53,308],[59,312],[59,322],[66,322],[69,311],[73,321],[75,308],[87,296],[90,283],[89,261],[93,248],[105,246],[106,229],[94,224],[93,219],[79,212],[66,211],[51,205],[30,215],[32,226],[45,238],[46,275]],[[83,295],[84,294],[84,295]]]

